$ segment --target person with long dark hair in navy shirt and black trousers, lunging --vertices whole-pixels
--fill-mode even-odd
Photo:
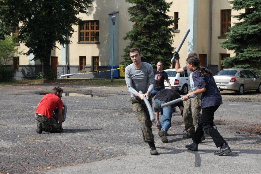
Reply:
[[[220,147],[218,151],[214,152],[214,155],[223,155],[231,152],[228,143],[219,134],[217,129],[214,128],[214,113],[222,104],[222,97],[213,78],[212,71],[201,66],[200,60],[195,54],[187,58],[187,68],[189,71],[192,71],[192,83],[194,83],[193,85],[196,87],[196,90],[183,96],[182,100],[188,100],[188,96],[191,94],[198,95],[202,93],[202,114],[198,121],[199,127],[192,138],[193,143],[185,147],[193,151],[198,151],[198,144],[200,143],[202,135],[206,132],[211,136],[216,147]]]

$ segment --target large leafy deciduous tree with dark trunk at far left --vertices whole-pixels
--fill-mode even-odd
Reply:
[[[81,21],[79,13],[87,13],[93,0],[1,0],[0,39],[18,29],[17,41],[24,43],[33,60],[44,64],[44,75],[50,70],[50,55],[55,42],[68,44],[73,25]]]

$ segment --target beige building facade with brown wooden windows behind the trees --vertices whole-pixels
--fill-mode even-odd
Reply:
[[[201,64],[211,69],[214,74],[222,69],[221,59],[233,56],[233,51],[228,51],[219,46],[227,39],[225,32],[228,26],[237,22],[230,15],[239,12],[231,10],[227,0],[166,0],[173,2],[167,14],[179,18],[173,24],[174,43],[178,47],[187,29],[190,32],[180,49],[180,64],[186,65],[187,55],[195,51]],[[128,41],[123,37],[132,29],[133,23],[129,21],[128,7],[132,6],[125,0],[95,0],[87,14],[79,14],[82,23],[74,27],[76,32],[71,38],[71,43],[51,51],[50,66],[57,76],[75,74],[70,78],[110,78],[113,68],[119,67],[123,61],[123,49]],[[242,10],[241,12],[244,12]],[[116,18],[113,25],[112,17]],[[66,19],[65,19],[66,20]],[[157,24],[155,24],[157,25]],[[19,50],[28,50],[23,44],[18,45]],[[142,51],[142,50],[141,50]],[[35,78],[41,71],[41,62],[33,61],[33,55],[20,55],[18,67],[13,69],[16,80]],[[169,58],[171,60],[171,57]],[[174,67],[174,63],[170,66]],[[85,74],[77,74],[85,73]],[[121,78],[119,70],[113,72],[114,78]]]

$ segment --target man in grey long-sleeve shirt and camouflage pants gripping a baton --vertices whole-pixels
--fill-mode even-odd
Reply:
[[[152,107],[151,93],[154,89],[154,73],[152,65],[141,61],[141,53],[138,48],[130,49],[130,58],[132,64],[125,68],[125,81],[130,92],[130,102],[133,112],[141,123],[142,135],[144,142],[150,147],[150,154],[157,155],[157,149],[154,143],[152,133],[152,122],[149,117],[149,111],[146,107],[143,97],[149,100]],[[142,91],[142,93],[139,93]],[[145,93],[145,94],[143,94]]]

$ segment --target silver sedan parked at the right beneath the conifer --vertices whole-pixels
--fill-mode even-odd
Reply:
[[[261,79],[247,69],[224,69],[214,75],[214,79],[220,91],[232,90],[240,95],[244,90],[256,90],[257,93],[261,93]]]

